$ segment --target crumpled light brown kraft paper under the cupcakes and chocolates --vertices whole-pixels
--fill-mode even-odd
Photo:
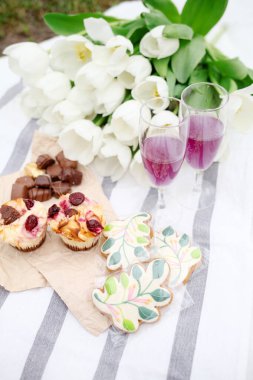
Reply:
[[[38,155],[48,153],[55,156],[59,151],[56,139],[35,132],[32,144],[32,161]],[[93,172],[79,165],[83,172],[81,185],[73,186],[72,191],[81,191],[104,208],[107,222],[115,218],[109,200]],[[11,186],[22,173],[1,178],[1,203],[9,200]],[[56,203],[57,199],[44,202],[45,207]],[[10,291],[19,291],[47,286],[59,294],[78,321],[94,335],[106,330],[111,322],[93,305],[92,290],[98,278],[106,275],[105,260],[100,254],[101,242],[88,251],[69,250],[60,237],[47,232],[44,244],[31,253],[21,253],[8,244],[0,245],[0,284]]]

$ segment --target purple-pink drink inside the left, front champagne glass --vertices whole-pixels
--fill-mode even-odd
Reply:
[[[152,136],[144,140],[142,160],[151,181],[168,185],[177,175],[184,160],[184,144],[169,136]]]

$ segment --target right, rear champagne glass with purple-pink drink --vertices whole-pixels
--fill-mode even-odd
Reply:
[[[214,83],[200,82],[186,87],[182,92],[182,109],[189,112],[189,137],[186,146],[186,161],[195,170],[193,190],[200,193],[203,171],[215,160],[225,134],[228,117],[227,91]],[[210,192],[211,184],[206,184],[205,191]],[[212,197],[204,197],[208,202]],[[209,204],[202,204],[209,207]]]

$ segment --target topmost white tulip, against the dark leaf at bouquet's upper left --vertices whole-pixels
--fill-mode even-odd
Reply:
[[[95,42],[106,44],[114,36],[110,25],[103,18],[89,17],[83,22],[88,36]]]

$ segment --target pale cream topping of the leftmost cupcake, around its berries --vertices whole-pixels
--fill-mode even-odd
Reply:
[[[13,207],[19,212],[20,217],[10,224],[4,224],[4,219],[0,213],[0,239],[11,244],[18,245],[26,241],[31,241],[41,237],[45,233],[47,222],[47,210],[41,202],[34,201],[33,207],[28,210],[22,198],[4,203]],[[38,223],[35,228],[28,231],[25,227],[27,218],[30,215],[37,217]]]

